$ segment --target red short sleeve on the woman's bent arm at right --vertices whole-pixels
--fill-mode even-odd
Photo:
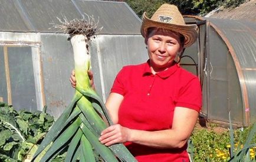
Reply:
[[[202,91],[198,77],[193,77],[179,90],[176,106],[186,107],[200,112],[202,107]]]

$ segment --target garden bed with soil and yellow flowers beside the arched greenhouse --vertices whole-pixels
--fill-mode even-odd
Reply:
[[[206,122],[203,126],[196,123],[189,145],[193,161],[229,161],[231,158],[231,134],[229,126]],[[252,127],[235,128],[234,134],[234,154],[244,147]],[[252,138],[251,144],[256,143],[256,138]],[[192,144],[192,146],[191,146]],[[247,156],[251,161],[255,161],[255,149],[251,147],[247,151]],[[235,161],[235,160],[233,160]]]

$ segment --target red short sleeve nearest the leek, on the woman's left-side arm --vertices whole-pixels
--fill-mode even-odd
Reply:
[[[113,86],[111,88],[111,93],[119,93],[124,96],[125,89],[124,89],[124,82],[125,82],[125,72],[124,68],[122,68],[119,73],[117,73],[116,78],[114,79]]]

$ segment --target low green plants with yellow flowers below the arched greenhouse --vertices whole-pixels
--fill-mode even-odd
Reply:
[[[249,161],[255,160],[256,137],[250,135],[250,133],[255,134],[254,127],[233,130],[234,154],[237,157],[242,156],[239,157],[241,161],[244,161],[245,158],[249,158]],[[231,136],[229,133],[228,129],[218,133],[216,126],[210,127],[209,129],[195,129],[191,136],[193,161],[239,161],[238,158],[234,160],[234,157],[230,157]],[[251,137],[249,138],[249,136]],[[248,146],[245,146],[248,139],[252,140],[248,142]],[[242,149],[246,151],[244,151],[244,154],[241,154]]]

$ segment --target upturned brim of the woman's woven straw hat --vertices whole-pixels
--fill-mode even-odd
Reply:
[[[153,21],[147,18],[146,12],[142,16],[142,26],[140,28],[140,33],[145,38],[147,28],[162,28],[168,29],[170,31],[178,32],[185,37],[184,48],[191,46],[198,37],[197,26],[196,25],[175,25],[172,23]]]

